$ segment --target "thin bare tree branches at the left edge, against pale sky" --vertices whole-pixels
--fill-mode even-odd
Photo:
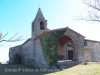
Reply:
[[[16,35],[18,34],[18,32],[9,39],[4,39],[4,37],[6,37],[8,35],[8,33],[6,33],[4,36],[2,36],[2,33],[0,33],[0,42],[16,42],[16,41],[21,41],[23,36],[18,37],[17,39],[14,39],[16,37]]]

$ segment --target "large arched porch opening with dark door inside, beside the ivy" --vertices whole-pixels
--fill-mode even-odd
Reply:
[[[58,41],[58,61],[59,60],[76,60],[75,41],[73,38],[63,35]]]

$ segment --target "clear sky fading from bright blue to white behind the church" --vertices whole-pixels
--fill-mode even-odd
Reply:
[[[31,23],[38,8],[47,20],[49,29],[69,27],[86,39],[100,41],[99,23],[78,21],[77,16],[86,9],[81,0],[0,0],[0,32],[8,33],[4,39],[23,36],[23,41],[1,42],[0,61],[8,60],[9,48],[31,38]]]

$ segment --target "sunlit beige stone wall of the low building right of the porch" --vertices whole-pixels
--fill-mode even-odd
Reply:
[[[84,47],[85,61],[100,62],[100,42],[85,40],[87,46]]]

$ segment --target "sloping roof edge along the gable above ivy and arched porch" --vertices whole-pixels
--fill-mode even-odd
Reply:
[[[70,28],[68,28],[68,27],[65,27],[65,28],[59,28],[59,29],[54,29],[54,30],[44,30],[43,33],[41,33],[40,35],[38,35],[38,36],[35,37],[34,39],[35,39],[35,40],[36,40],[36,39],[39,39],[41,36],[45,35],[46,33],[55,32],[55,31],[61,31],[61,30],[70,30],[70,31],[72,31],[72,32],[74,32],[74,33],[76,33],[76,34],[78,34],[79,36],[85,38],[85,36],[79,34],[78,32],[76,32],[76,31],[74,31],[74,30],[72,30],[72,29],[70,29]]]

